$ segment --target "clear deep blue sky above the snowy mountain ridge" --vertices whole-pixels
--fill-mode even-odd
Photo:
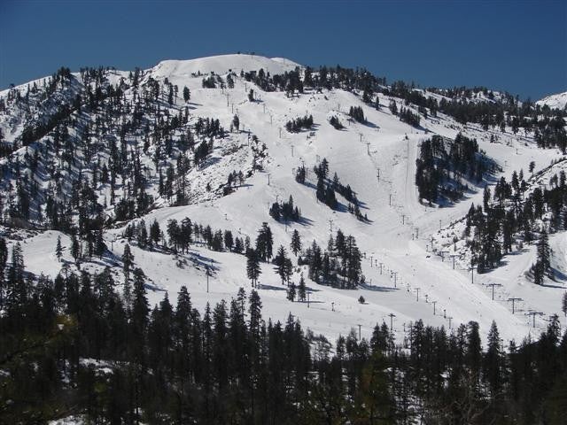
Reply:
[[[567,91],[567,0],[0,0],[2,89],[59,66],[133,69],[237,51],[535,100]]]

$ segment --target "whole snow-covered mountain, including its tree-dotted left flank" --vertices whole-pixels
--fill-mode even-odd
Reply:
[[[262,74],[281,76],[288,86],[262,88],[263,82],[256,79],[260,69]],[[296,72],[302,81],[301,89],[293,86]],[[515,133],[510,126],[502,131],[480,123],[462,124],[443,112],[423,113],[415,104],[392,96],[385,83],[385,91],[378,94],[377,108],[364,101],[364,89],[349,86],[348,82],[309,84],[305,79],[310,73],[321,76],[322,72],[307,70],[289,59],[226,55],[166,60],[149,70],[132,73],[63,72],[52,86],[52,78],[47,78],[4,90],[0,92],[4,145],[10,149],[16,143],[18,147],[0,159],[4,215],[8,218],[8,205],[18,204],[19,188],[27,187],[29,181],[34,183],[28,186],[36,189],[35,196],[27,200],[30,220],[34,222],[45,222],[50,217],[53,212],[48,205],[53,199],[64,207],[73,204],[74,196],[92,196],[93,211],[100,205],[101,216],[105,217],[107,251],[100,259],[84,259],[82,269],[96,271],[109,266],[117,276],[121,275],[120,257],[128,243],[125,229],[141,220],[148,227],[156,220],[166,239],[168,220],[182,222],[188,217],[213,230],[230,230],[235,237],[249,236],[252,243],[262,223],[267,222],[274,236],[274,251],[282,244],[288,252],[294,230],[299,231],[305,249],[314,240],[327,246],[330,235],[335,236],[340,228],[345,235],[354,236],[362,253],[365,282],[357,289],[317,284],[307,279],[306,266],[295,266],[291,280],[297,283],[304,275],[310,303],[291,302],[274,265],[268,263],[261,265],[259,286],[267,316],[283,321],[291,313],[315,333],[331,337],[359,325],[362,336],[369,336],[377,323],[390,323],[389,314],[393,313],[399,341],[403,340],[406,325],[417,319],[447,328],[478,321],[483,332],[497,321],[501,336],[509,341],[534,333],[532,317],[526,313],[541,312],[547,317],[560,311],[560,296],[567,289],[563,278],[559,276],[557,282],[547,286],[535,286],[524,273],[532,265],[535,247],[509,255],[503,267],[489,273],[475,272],[471,282],[466,257],[453,263],[448,256],[442,256],[439,246],[450,246],[454,236],[461,238],[462,229],[457,232],[454,223],[468,213],[471,203],[483,204],[485,185],[493,185],[501,176],[509,179],[514,170],[523,169],[527,175],[532,162],[537,174],[560,158],[561,152],[540,149],[533,133]],[[209,84],[214,88],[206,87]],[[187,101],[183,99],[185,87],[190,92]],[[420,93],[439,102],[443,98],[451,100],[445,94],[425,90]],[[31,100],[22,100],[26,98]],[[540,102],[548,103],[546,99]],[[62,104],[68,107],[62,109]],[[111,112],[109,104],[120,105],[120,112]],[[391,104],[419,114],[419,125],[401,121],[389,108]],[[361,108],[366,122],[353,120],[349,116],[351,107]],[[297,133],[286,130],[290,120],[308,115],[313,117],[313,128]],[[50,117],[60,116],[68,119],[66,124],[58,124],[55,118],[50,121]],[[163,124],[174,119],[175,125]],[[331,119],[340,121],[344,128],[331,126]],[[211,120],[218,120],[223,131],[216,131]],[[161,123],[159,132],[156,123]],[[420,144],[431,135],[453,140],[459,133],[476,139],[479,151],[492,158],[498,171],[480,182],[468,182],[465,196],[458,202],[431,206],[421,203],[416,192]],[[23,143],[23,137],[29,143]],[[200,146],[204,146],[206,154],[197,164],[194,152]],[[124,169],[111,183],[104,176],[113,166],[114,157],[120,157]],[[187,159],[186,166],[183,158],[180,166],[181,157]],[[343,195],[337,195],[338,207],[334,210],[317,201],[313,168],[322,158],[329,163],[330,178],[337,174],[340,182],[356,193],[361,215],[367,220],[358,220],[349,213],[350,202]],[[306,184],[296,181],[300,166],[307,169]],[[140,170],[143,182],[128,177],[130,168]],[[181,201],[167,196],[167,189],[162,188],[167,186],[168,169],[175,173],[170,182],[172,190],[183,186]],[[178,173],[179,169],[183,172]],[[238,172],[243,178],[237,184],[228,183]],[[27,175],[27,183],[21,181],[22,174]],[[92,183],[92,192],[76,187],[79,175]],[[141,187],[144,189],[140,191]],[[119,220],[116,205],[122,197],[133,194],[136,199],[147,197],[144,202],[148,205],[142,208],[143,202],[136,201],[132,208],[143,210],[140,216],[132,218],[125,213],[127,218]],[[302,220],[278,222],[270,217],[270,205],[290,196]],[[76,212],[69,210],[63,215],[76,220]],[[42,212],[43,220],[37,211]],[[21,221],[12,220],[12,224]],[[24,233],[6,226],[3,232],[11,244],[23,241],[29,271],[54,277],[61,267],[76,269],[71,238],[66,232],[26,227],[37,229]],[[58,236],[65,247],[63,262],[58,262],[55,253]],[[240,287],[250,290],[241,254],[210,250],[204,243],[193,243],[183,253],[141,248],[135,240],[130,245],[136,265],[143,268],[151,282],[152,304],[159,302],[164,291],[175,298],[182,285],[187,285],[199,309],[207,302],[235,297]],[[553,236],[552,245],[554,264],[563,265],[563,253],[567,251],[564,232]],[[291,259],[297,264],[292,254]],[[207,266],[212,270],[208,283]],[[501,286],[488,286],[491,283]],[[364,303],[359,302],[361,297]],[[509,298],[522,298],[514,313]],[[536,319],[535,333],[544,326],[545,321]]]

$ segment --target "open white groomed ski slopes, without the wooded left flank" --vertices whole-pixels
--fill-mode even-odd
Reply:
[[[199,72],[224,75],[229,70],[238,74],[241,69],[260,68],[270,73],[283,73],[296,66],[282,58],[226,55],[188,61],[168,60],[148,70],[155,79],[167,78],[180,88],[189,87],[191,113],[195,116],[218,118],[224,128],[229,128],[237,113],[241,132],[230,134],[226,142],[227,146],[232,143],[234,149],[219,147],[211,160],[212,166],[200,172],[191,171],[188,179],[195,196],[191,198],[190,205],[168,207],[164,206],[166,203],[159,204],[158,199],[157,206],[163,207],[148,213],[144,217],[146,224],[155,219],[165,229],[169,219],[190,217],[200,224],[230,229],[236,236],[247,235],[253,240],[261,223],[267,221],[274,233],[275,248],[280,243],[289,247],[293,229],[299,230],[304,246],[314,239],[325,246],[330,228],[333,232],[341,228],[346,235],[355,236],[365,255],[363,273],[369,284],[358,290],[337,290],[308,282],[313,301],[310,305],[288,301],[279,276],[272,270],[273,266],[262,265],[260,297],[266,316],[284,321],[292,313],[308,328],[330,337],[346,334],[358,325],[361,325],[362,336],[369,336],[377,323],[386,321],[389,325],[388,314],[394,313],[393,326],[398,341],[403,340],[404,329],[407,330],[409,323],[418,319],[453,329],[460,323],[478,321],[485,333],[495,320],[501,336],[509,341],[534,333],[524,314],[528,308],[539,309],[546,314],[559,311],[562,284],[558,284],[557,288],[534,288],[518,277],[520,270],[532,259],[530,251],[510,260],[508,268],[502,267],[492,274],[475,275],[474,283],[470,282],[468,270],[462,267],[453,269],[449,261],[431,256],[428,246],[431,236],[436,235],[439,228],[446,228],[454,220],[461,219],[471,202],[482,203],[482,188],[473,188],[466,199],[451,207],[431,208],[418,202],[414,182],[419,143],[431,134],[454,137],[461,131],[464,135],[476,137],[480,149],[494,158],[507,176],[513,170],[527,170],[531,161],[535,161],[536,169],[548,166],[557,158],[557,151],[538,149],[532,137],[523,133],[512,135],[508,130],[502,134],[500,131],[483,131],[477,125],[462,126],[441,113],[437,118],[422,120],[421,129],[412,128],[392,115],[385,106],[391,99],[384,96],[380,98],[383,107],[376,110],[363,104],[361,97],[339,89],[319,94],[307,91],[299,97],[286,97],[283,92],[262,92],[239,77],[235,79],[234,89],[203,89],[201,78],[194,76]],[[261,102],[248,100],[251,88],[261,93]],[[401,105],[400,99],[393,100]],[[182,105],[183,100],[178,99],[178,103]],[[346,112],[352,105],[362,107],[369,121],[366,125],[347,120]],[[314,117],[314,136],[308,136],[308,132],[290,134],[284,130],[286,121],[306,113]],[[332,115],[345,124],[344,130],[338,131],[329,125],[328,119]],[[250,134],[257,135],[260,143],[267,147],[264,171],[252,174],[242,188],[227,197],[207,192],[204,189],[206,181],[226,182],[233,169],[250,163]],[[490,143],[491,135],[496,137],[496,143]],[[368,223],[356,220],[346,211],[332,211],[317,203],[315,189],[295,182],[294,169],[305,164],[309,170],[308,182],[315,184],[312,169],[322,158],[330,162],[330,175],[336,172],[341,182],[350,184],[356,191],[363,205],[362,213],[368,215]],[[146,166],[151,168],[150,158],[146,159]],[[495,177],[500,178],[499,175]],[[99,190],[101,199],[107,194],[107,189]],[[291,223],[286,228],[271,219],[268,205],[276,198],[286,199],[290,195],[307,220]],[[344,200],[341,202],[346,204]],[[121,238],[122,231],[123,228],[116,228],[105,232],[105,240],[112,253],[87,265],[87,268],[95,270],[105,265],[117,265],[125,243]],[[26,241],[24,252],[31,271],[57,274],[61,263],[55,261],[52,253],[57,236],[58,232],[45,232]],[[64,245],[68,243],[67,240],[63,242]],[[556,251],[567,251],[564,235],[556,236],[554,243]],[[175,299],[175,293],[182,285],[188,286],[191,298],[199,308],[207,302],[234,297],[239,287],[250,290],[245,260],[237,254],[208,251],[198,244],[191,248],[189,254],[177,258],[137,247],[133,247],[133,252],[136,266],[142,267],[155,285],[155,290],[151,291],[152,304],[163,297],[165,290],[169,292],[170,299]],[[208,292],[204,272],[206,264],[214,270]],[[307,276],[307,270],[303,273]],[[118,271],[116,275],[120,279]],[[497,296],[493,300],[485,284],[495,279],[506,284],[496,290]],[[299,281],[299,273],[294,274],[293,280]],[[364,305],[357,301],[361,295],[366,299]],[[506,301],[509,297],[526,300],[519,313],[512,314],[511,305]],[[539,333],[545,323],[538,319],[536,325],[535,332]]]

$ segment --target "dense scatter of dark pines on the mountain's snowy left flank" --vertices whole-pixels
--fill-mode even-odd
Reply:
[[[167,79],[143,80],[139,69],[117,80],[113,73],[83,68],[75,75],[62,68],[30,84],[25,95],[10,89],[2,99],[4,111],[27,112],[23,134],[13,144],[0,137],[5,155],[26,146],[24,155],[0,169],[6,177],[0,219],[84,239],[114,220],[147,213],[155,201],[147,193],[154,177],[169,205],[187,204],[187,174],[209,164],[215,140],[225,137],[220,121],[190,120],[188,107],[177,106],[177,86]],[[183,100],[189,99],[184,88]],[[252,151],[258,166],[261,151],[255,145]]]

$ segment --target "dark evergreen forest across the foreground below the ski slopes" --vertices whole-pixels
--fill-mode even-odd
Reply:
[[[355,247],[339,233],[332,246],[337,256]],[[291,316],[264,321],[254,290],[199,312],[183,286],[175,305],[166,294],[151,306],[139,268],[120,288],[109,268],[51,280],[26,271],[18,243],[9,254],[0,239],[6,423],[70,414],[98,423],[563,423],[567,332],[556,316],[537,342],[508,351],[495,323],[483,350],[474,321],[448,334],[408,323],[400,344],[383,323],[369,340],[352,331],[331,347]],[[276,259],[285,264],[283,247]],[[301,279],[299,300],[306,290]]]

